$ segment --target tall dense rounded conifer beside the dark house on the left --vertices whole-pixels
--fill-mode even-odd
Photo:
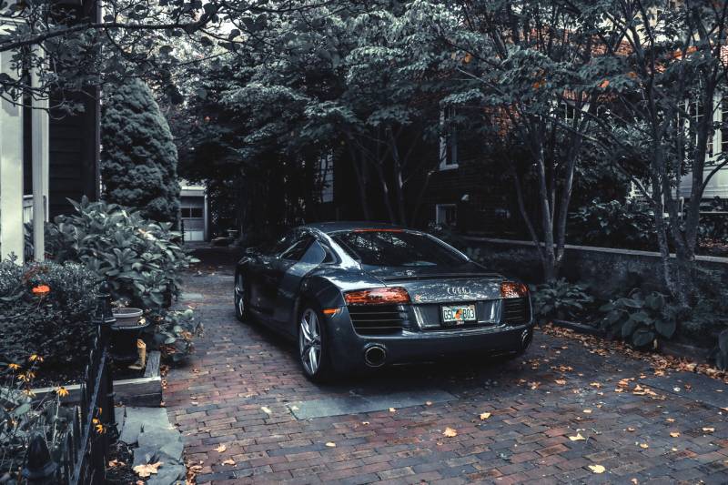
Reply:
[[[106,201],[145,217],[176,222],[177,147],[151,90],[129,80],[106,89],[101,117],[101,177]]]

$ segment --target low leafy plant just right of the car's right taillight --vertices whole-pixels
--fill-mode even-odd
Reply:
[[[577,318],[594,301],[580,285],[561,278],[531,288],[533,311],[540,318]]]

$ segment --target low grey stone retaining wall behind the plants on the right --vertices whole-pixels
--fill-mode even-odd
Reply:
[[[527,282],[543,278],[538,253],[530,241],[462,237],[469,248],[480,251],[488,267]],[[728,284],[728,258],[698,257],[699,268]],[[659,253],[630,249],[567,246],[561,275],[570,281],[583,281],[600,297],[622,294],[626,289],[664,291]]]

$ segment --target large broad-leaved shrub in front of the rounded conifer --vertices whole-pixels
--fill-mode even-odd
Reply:
[[[178,244],[170,223],[157,223],[116,204],[71,201],[76,214],[47,228],[48,251],[77,261],[109,282],[112,297],[162,315],[179,293],[180,271],[197,259]]]

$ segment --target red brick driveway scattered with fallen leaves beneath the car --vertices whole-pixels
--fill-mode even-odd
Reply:
[[[525,358],[509,363],[425,365],[318,386],[303,378],[292,344],[238,323],[232,275],[220,271],[186,280],[206,332],[165,391],[187,459],[202,465],[197,483],[728,483],[728,386],[716,380],[656,377],[644,361],[539,331]],[[452,399],[316,419],[290,409],[388,391]],[[443,436],[447,428],[457,435]]]

